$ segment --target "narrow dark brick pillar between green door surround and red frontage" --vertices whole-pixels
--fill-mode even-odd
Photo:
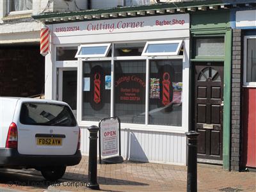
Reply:
[[[242,39],[241,29],[234,29],[232,35],[232,99],[231,99],[231,170],[239,170],[241,163],[241,88],[242,88]]]

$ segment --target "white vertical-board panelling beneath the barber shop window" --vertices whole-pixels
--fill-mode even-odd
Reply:
[[[89,132],[81,129],[82,154],[89,153]],[[151,132],[124,129],[121,131],[124,159],[134,161],[186,164],[186,136],[172,132]]]

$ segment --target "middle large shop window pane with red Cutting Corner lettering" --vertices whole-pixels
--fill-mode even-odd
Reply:
[[[122,123],[145,124],[146,61],[115,61],[115,115]]]

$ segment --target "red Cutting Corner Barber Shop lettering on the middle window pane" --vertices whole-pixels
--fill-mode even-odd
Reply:
[[[145,74],[116,74],[115,88],[118,103],[145,102]]]

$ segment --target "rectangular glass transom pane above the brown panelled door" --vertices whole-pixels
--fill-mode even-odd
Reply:
[[[195,56],[224,56],[224,38],[196,38]]]

